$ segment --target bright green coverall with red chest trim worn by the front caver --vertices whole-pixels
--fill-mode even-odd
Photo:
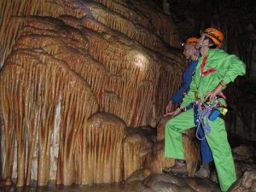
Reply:
[[[216,71],[201,76],[201,64],[205,56],[208,58],[203,70],[213,67]],[[229,55],[221,49],[209,49],[199,59],[189,92],[184,96],[181,106],[187,107],[191,102],[195,102],[195,90],[198,90],[198,97],[203,101],[204,96],[214,90],[222,80],[229,84],[238,75],[244,75],[245,71],[245,64],[236,55]],[[227,191],[236,181],[236,171],[224,119],[208,120],[208,123],[211,132],[206,134],[207,142],[212,150],[220,188]],[[165,157],[184,160],[182,132],[192,127],[195,127],[193,108],[178,114],[166,123]]]

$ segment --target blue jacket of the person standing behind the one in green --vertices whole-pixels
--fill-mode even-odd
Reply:
[[[183,93],[187,93],[189,91],[189,85],[192,81],[192,76],[197,63],[198,61],[189,61],[189,67],[187,67],[183,73],[183,85],[179,90],[177,90],[176,94],[172,96],[172,103],[182,102]]]

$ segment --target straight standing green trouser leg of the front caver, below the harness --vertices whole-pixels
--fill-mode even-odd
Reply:
[[[230,143],[224,126],[224,119],[208,120],[211,132],[206,135],[212,150],[214,164],[218,173],[220,188],[227,191],[236,181],[236,171],[231,153]]]

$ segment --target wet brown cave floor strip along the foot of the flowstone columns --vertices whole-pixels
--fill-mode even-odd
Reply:
[[[139,183],[139,182],[137,182]],[[55,185],[55,183],[49,183],[45,187],[23,187],[17,188],[5,187],[0,188],[0,192],[133,192],[137,186],[136,183],[124,184],[124,183],[113,183],[113,184],[93,184],[93,185],[75,185],[72,186],[62,186]]]

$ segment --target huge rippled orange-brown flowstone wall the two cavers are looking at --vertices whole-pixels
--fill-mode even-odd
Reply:
[[[6,184],[113,183],[143,164],[126,127],[156,125],[185,65],[153,2],[3,0],[0,33]]]

